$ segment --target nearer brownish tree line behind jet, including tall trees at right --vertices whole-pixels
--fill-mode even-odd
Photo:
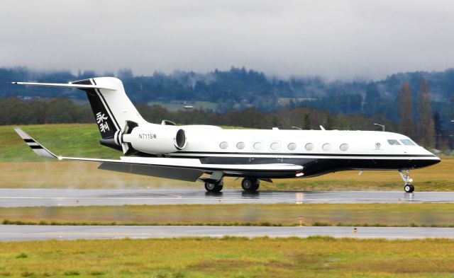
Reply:
[[[327,110],[308,107],[292,107],[274,112],[258,109],[229,110],[225,113],[207,110],[178,110],[171,112],[160,105],[136,105],[145,120],[160,123],[170,120],[177,124],[214,124],[231,127],[270,129],[340,129],[340,130],[380,130],[375,123],[384,124],[387,132],[405,134],[422,146],[436,149],[453,149],[450,137],[442,128],[438,112],[432,114],[431,94],[426,80],[421,81],[420,105],[413,108],[412,91],[404,83],[399,93],[399,122],[389,120],[381,114],[365,115],[334,114]],[[417,117],[416,117],[417,116]],[[21,100],[19,98],[0,98],[0,124],[56,124],[90,123],[94,115],[89,103],[75,103],[68,98]]]

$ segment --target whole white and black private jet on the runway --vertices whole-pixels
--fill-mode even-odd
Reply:
[[[99,142],[124,154],[118,160],[55,156],[16,128],[38,156],[96,161],[104,170],[200,180],[209,192],[222,190],[223,177],[243,178],[243,190],[255,191],[260,180],[309,178],[341,170],[397,170],[404,180],[404,190],[413,192],[409,170],[440,162],[409,137],[391,132],[221,129],[177,126],[167,120],[152,124],[135,109],[123,83],[112,77],[68,84],[13,83],[85,91],[101,133]]]

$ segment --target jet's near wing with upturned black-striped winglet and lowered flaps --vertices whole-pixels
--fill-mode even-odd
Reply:
[[[22,129],[16,127],[14,130],[26,141],[28,146],[44,158],[56,158],[58,160],[72,161],[94,161],[100,162],[99,169],[114,170],[124,173],[135,173],[139,175],[151,175],[160,178],[171,178],[175,180],[196,181],[204,173],[231,173],[240,174],[251,171],[299,171],[303,167],[288,163],[267,163],[267,164],[206,164],[201,163],[198,158],[144,158],[121,156],[120,159],[100,158],[78,158],[67,156],[56,156],[43,145],[35,141]]]

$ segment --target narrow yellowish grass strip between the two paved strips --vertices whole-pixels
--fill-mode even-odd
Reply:
[[[1,207],[5,224],[454,226],[454,204],[188,204]],[[115,222],[115,223],[114,223]]]

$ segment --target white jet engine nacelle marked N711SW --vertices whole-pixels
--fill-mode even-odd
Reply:
[[[123,144],[148,154],[167,154],[184,149],[187,144],[184,130],[161,124],[141,124],[123,134]]]

